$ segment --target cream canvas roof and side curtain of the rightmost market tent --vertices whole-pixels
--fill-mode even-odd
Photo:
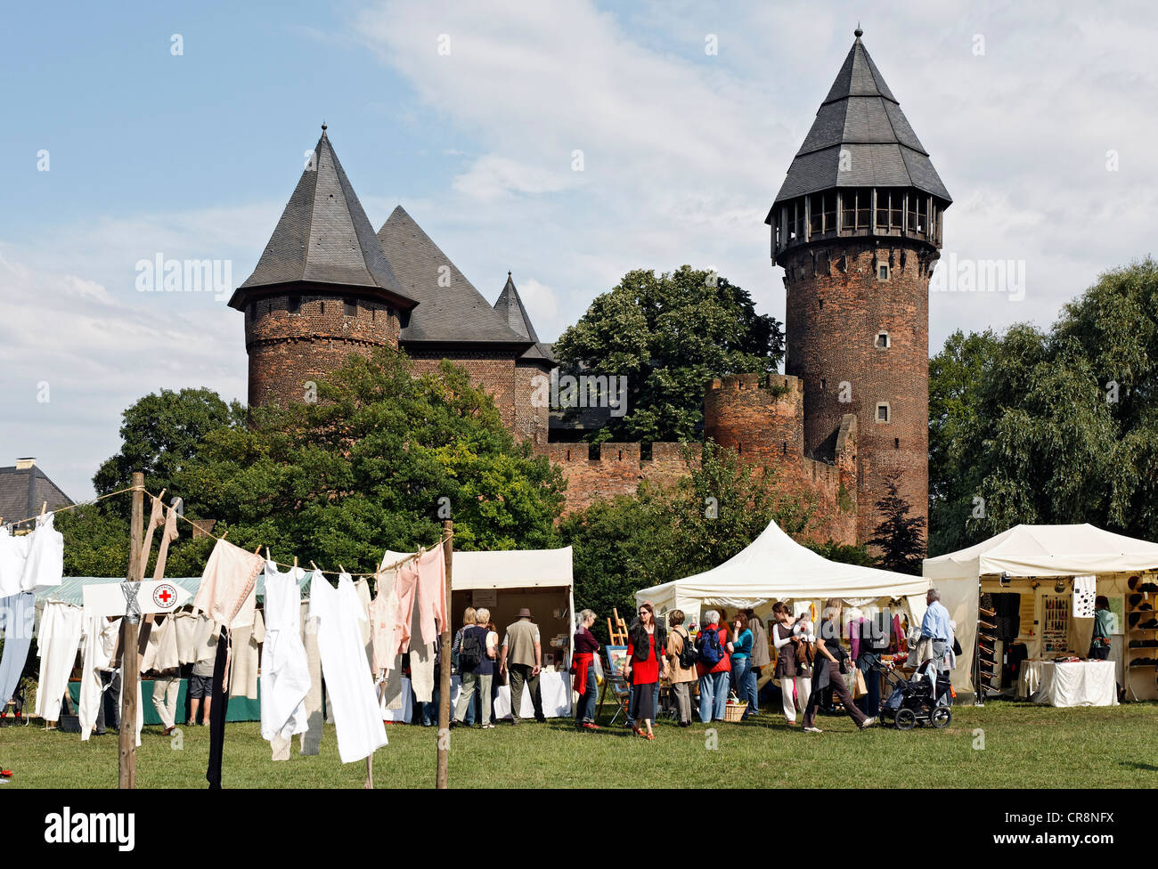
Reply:
[[[926,558],[924,576],[941,592],[941,603],[957,621],[957,638],[965,653],[957,670],[953,685],[960,693],[973,692],[970,684],[973,650],[977,628],[977,605],[980,591],[1018,591],[1033,595],[1031,583],[1039,579],[1057,580],[1093,574],[1098,577],[1098,594],[1123,595],[1129,576],[1158,569],[1158,544],[1115,535],[1090,524],[1082,525],[1014,525],[996,537],[950,552],[937,558]],[[1007,574],[1009,582],[1002,587],[999,577]],[[1040,619],[1040,597],[1053,591],[1054,583],[1039,583],[1034,604],[1035,619]],[[1026,619],[1023,619],[1025,623]],[[1089,647],[1093,619],[1085,629]],[[1032,626],[1023,624],[1026,632]],[[1035,632],[1036,633],[1036,632]],[[1075,640],[1080,645],[1080,640]],[[1027,643],[1031,657],[1040,654],[1040,638]],[[1086,648],[1075,649],[1083,657]]]

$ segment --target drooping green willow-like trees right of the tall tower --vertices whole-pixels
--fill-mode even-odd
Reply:
[[[1048,332],[968,340],[962,425],[943,425],[938,403],[960,354],[930,364],[932,551],[1018,523],[1158,539],[1158,264],[1106,272]]]

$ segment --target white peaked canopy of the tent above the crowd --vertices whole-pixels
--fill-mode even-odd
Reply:
[[[929,581],[874,567],[829,561],[789,537],[771,522],[743,551],[711,570],[665,582],[636,592],[636,603],[651,601],[657,612],[702,609],[757,609],[772,601],[822,601],[840,597],[863,606],[889,598],[908,598],[911,618],[925,611]]]

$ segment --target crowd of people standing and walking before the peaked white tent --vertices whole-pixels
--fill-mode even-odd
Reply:
[[[935,670],[944,671],[950,669],[953,626],[937,589],[929,590],[926,604],[919,634],[914,636],[926,646],[924,656],[932,660]],[[830,598],[816,625],[809,611],[794,614],[791,606],[779,602],[772,605],[769,632],[752,610],[740,610],[730,619],[713,609],[704,613],[697,632],[695,626],[689,631],[682,610],[669,612],[665,626],[657,619],[652,603],[642,603],[628,627],[621,671],[630,688],[626,726],[638,736],[655,738],[653,723],[659,714],[662,680],[668,683],[680,727],[692,723],[692,685],[698,688],[701,723],[725,721],[730,702],[742,708],[741,720],[760,715],[758,682],[765,668],[774,667],[772,678],[779,684],[784,719],[790,726],[802,712],[804,731],[819,734],[818,712],[835,708],[838,702],[859,729],[872,727],[881,708],[880,673],[892,667],[882,657],[891,628],[872,621],[866,626],[859,618],[853,629],[864,634],[858,634],[859,642],[851,643],[850,651],[841,642],[843,612],[843,602]],[[591,631],[595,619],[592,610],[578,614],[573,647],[576,727],[586,730],[599,729],[594,713],[600,643]],[[849,680],[860,688],[856,699]]]

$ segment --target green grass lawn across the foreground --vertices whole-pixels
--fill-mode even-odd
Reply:
[[[750,787],[790,781],[809,787],[1102,788],[1158,787],[1153,746],[1158,704],[1055,709],[1016,702],[953,709],[945,730],[858,732],[848,717],[818,719],[823,734],[790,730],[767,712],[755,721],[706,728],[657,726],[646,742],[622,727],[576,732],[565,720],[500,723],[494,730],[450,734],[450,786],[496,788],[636,787],[667,783],[718,787],[720,776]],[[984,748],[974,730],[984,731]],[[379,788],[432,787],[435,729],[388,724],[390,744],[374,756]],[[179,749],[160,728],[147,727],[137,753],[141,788],[204,788],[208,731],[185,728]],[[334,727],[322,753],[287,763],[270,760],[254,723],[227,724],[227,788],[358,788],[362,763],[338,760]],[[787,766],[784,761],[793,761]],[[13,769],[5,788],[113,788],[117,737],[82,743],[76,734],[44,732],[36,724],[0,729],[0,766]],[[733,778],[734,776],[734,778]]]

